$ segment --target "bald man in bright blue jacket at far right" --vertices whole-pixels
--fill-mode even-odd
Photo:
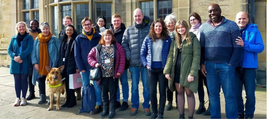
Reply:
[[[243,58],[236,67],[236,100],[238,106],[238,118],[253,118],[255,111],[255,78],[258,68],[258,53],[264,50],[264,45],[258,25],[247,24],[249,18],[246,12],[236,14],[236,23],[239,27],[241,37],[236,39],[236,44],[243,47]],[[242,98],[243,84],[246,91],[246,106]]]

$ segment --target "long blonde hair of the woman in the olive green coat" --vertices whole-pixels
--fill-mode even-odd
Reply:
[[[180,43],[180,39],[182,38],[181,37],[181,34],[178,33],[177,31],[177,28],[179,25],[182,25],[183,27],[185,27],[185,40],[187,41],[188,44],[191,44],[192,42],[192,39],[190,38],[189,36],[189,26],[188,24],[186,23],[185,20],[179,20],[178,22],[176,22],[175,24],[175,42],[177,43],[177,47],[179,49],[181,49],[181,43]]]

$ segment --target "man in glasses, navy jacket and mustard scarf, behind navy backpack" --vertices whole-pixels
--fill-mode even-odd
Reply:
[[[82,20],[82,33],[76,37],[74,44],[75,61],[82,76],[82,92],[84,87],[90,84],[89,70],[92,67],[88,63],[88,54],[101,39],[101,35],[95,32],[95,29],[92,27],[92,25],[93,21],[89,17],[85,17]],[[96,81],[93,81],[93,84],[96,92],[96,106],[93,111],[90,112],[90,114],[98,114],[102,111],[101,90],[100,85]]]

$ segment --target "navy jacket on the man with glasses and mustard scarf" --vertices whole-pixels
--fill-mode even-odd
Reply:
[[[82,33],[76,37],[74,44],[74,56],[79,71],[89,71],[92,68],[87,61],[87,57],[91,49],[98,44],[100,39],[101,35],[97,32],[93,34],[91,41]]]

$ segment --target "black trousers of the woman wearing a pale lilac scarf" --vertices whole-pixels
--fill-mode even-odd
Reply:
[[[207,93],[209,95],[209,90],[208,90],[208,85],[207,85],[207,79],[206,77],[201,73],[200,70],[198,70],[198,100],[199,102],[204,103],[204,87],[203,87],[203,82],[204,85],[206,86]]]

